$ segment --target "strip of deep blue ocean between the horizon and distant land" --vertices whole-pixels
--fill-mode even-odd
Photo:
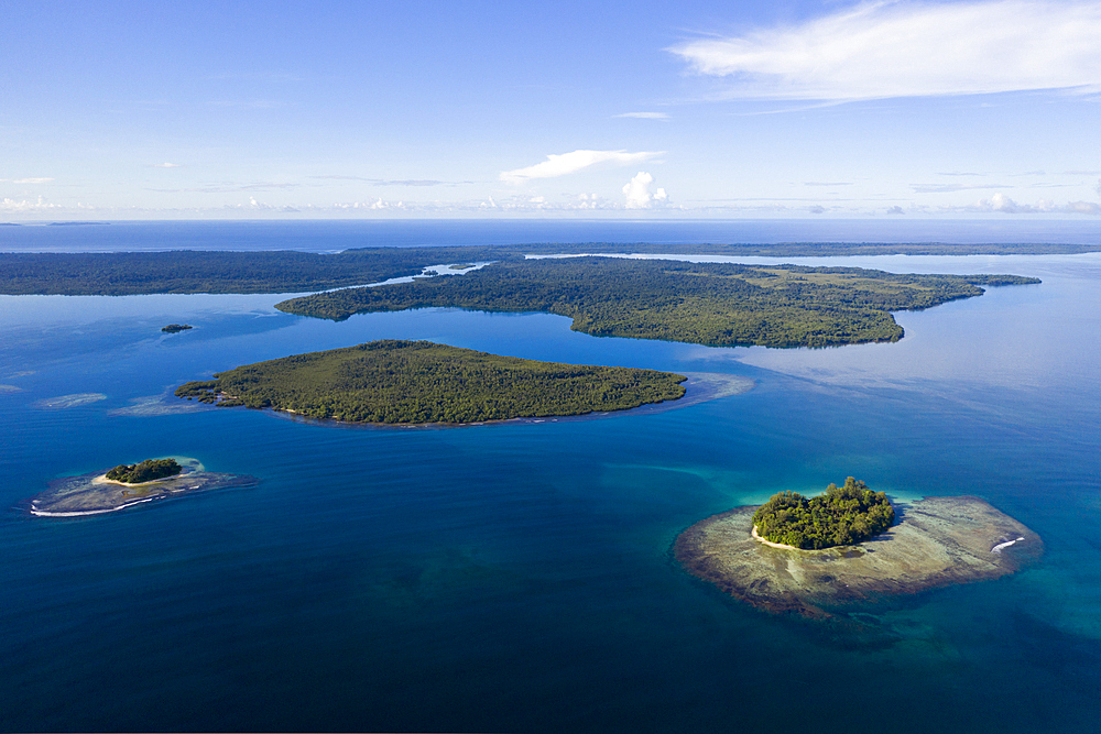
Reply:
[[[0,252],[301,250],[538,242],[1101,243],[1101,221],[897,219],[115,221],[0,227]]]

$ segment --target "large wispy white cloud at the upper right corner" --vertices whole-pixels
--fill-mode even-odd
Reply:
[[[868,2],[669,48],[745,99],[852,100],[1101,84],[1101,3]]]

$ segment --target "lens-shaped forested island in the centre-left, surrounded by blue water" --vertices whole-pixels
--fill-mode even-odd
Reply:
[[[686,377],[381,340],[247,364],[176,390],[219,406],[370,424],[469,424],[623,410],[674,401]]]

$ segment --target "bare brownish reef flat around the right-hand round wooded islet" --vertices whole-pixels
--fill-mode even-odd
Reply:
[[[756,507],[696,523],[673,547],[684,569],[722,592],[781,613],[828,618],[852,604],[1015,572],[1044,552],[1034,532],[978,497],[926,497],[863,543],[777,548],[753,537]]]

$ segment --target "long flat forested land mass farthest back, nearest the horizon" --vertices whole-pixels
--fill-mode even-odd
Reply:
[[[781,244],[617,244],[370,248],[319,254],[226,252],[0,253],[0,295],[122,296],[154,293],[309,293],[415,275],[429,265],[522,260],[527,254],[839,255],[1076,254],[1099,244],[947,244],[939,242]]]

